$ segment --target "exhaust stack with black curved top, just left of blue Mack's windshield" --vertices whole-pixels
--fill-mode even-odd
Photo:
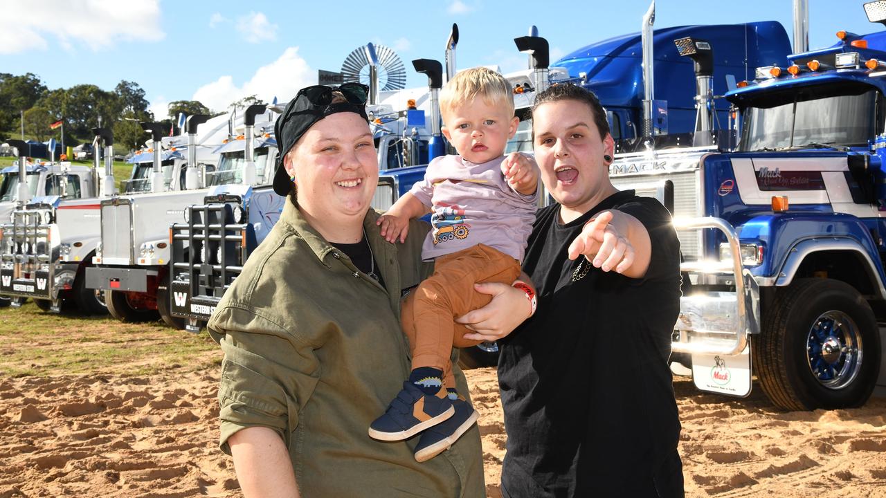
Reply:
[[[691,36],[673,41],[680,57],[688,57],[695,63],[696,70],[696,146],[711,145],[711,131],[714,124],[713,75],[714,52],[711,43]]]

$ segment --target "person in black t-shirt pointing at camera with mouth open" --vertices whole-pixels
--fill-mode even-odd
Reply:
[[[683,496],[671,333],[680,244],[670,214],[609,180],[594,94],[536,97],[533,144],[558,204],[540,210],[524,270],[535,315],[501,344],[506,497]]]

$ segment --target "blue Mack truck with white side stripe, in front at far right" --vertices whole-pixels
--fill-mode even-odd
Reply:
[[[886,24],[886,2],[864,6]],[[699,146],[610,166],[619,189],[672,210],[685,258],[673,360],[703,391],[745,396],[756,375],[781,409],[842,409],[886,384],[886,32],[837,36],[726,93],[734,147],[712,144],[729,136],[710,118],[719,45],[677,40],[695,61]]]

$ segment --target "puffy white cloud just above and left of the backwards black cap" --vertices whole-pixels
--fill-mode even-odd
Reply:
[[[232,76],[224,75],[197,89],[192,99],[199,100],[214,111],[227,111],[231,103],[250,95],[265,102],[270,102],[274,97],[278,102],[287,102],[295,97],[299,89],[316,82],[316,69],[308,66],[307,61],[299,56],[298,47],[290,47],[274,62],[261,66],[243,86],[237,86]]]

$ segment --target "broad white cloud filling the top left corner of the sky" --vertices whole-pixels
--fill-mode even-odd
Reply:
[[[47,36],[66,49],[85,43],[93,51],[120,40],[156,42],[160,27],[159,0],[42,0],[4,2],[0,16],[0,53],[47,50]]]

